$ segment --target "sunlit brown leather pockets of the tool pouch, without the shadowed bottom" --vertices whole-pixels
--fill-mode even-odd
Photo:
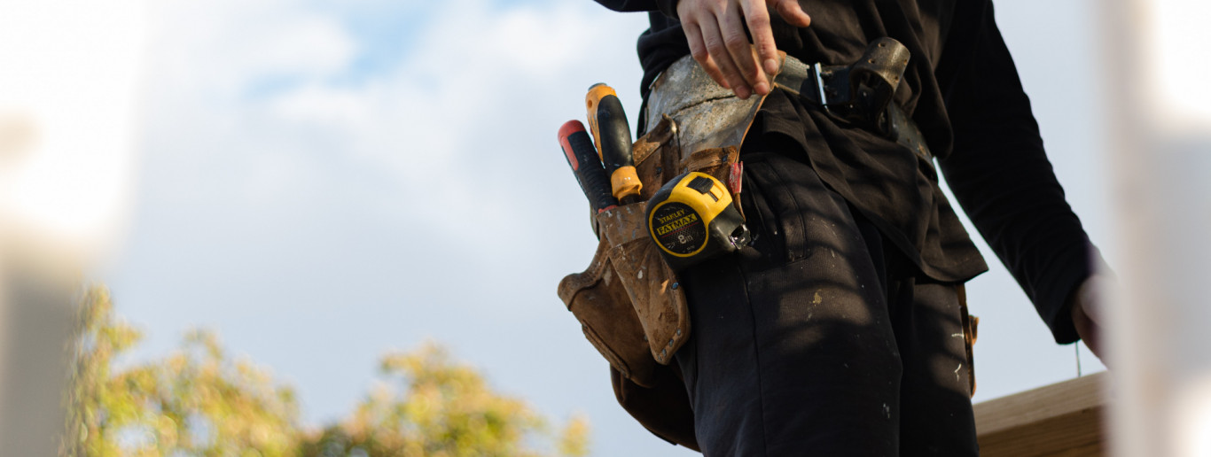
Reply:
[[[689,336],[689,313],[685,291],[648,236],[647,199],[685,170],[725,181],[740,155],[737,144],[682,157],[675,126],[672,117],[662,117],[635,143],[643,202],[595,216],[599,242],[593,260],[584,272],[564,277],[558,289],[610,368],[649,388],[656,384],[656,365],[667,365]]]

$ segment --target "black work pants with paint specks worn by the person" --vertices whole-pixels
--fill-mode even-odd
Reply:
[[[758,238],[682,272],[704,453],[977,455],[955,284],[919,277],[809,166],[742,157]]]

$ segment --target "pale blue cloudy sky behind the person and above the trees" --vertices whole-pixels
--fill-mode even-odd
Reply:
[[[1092,5],[1003,1],[998,22],[1056,174],[1113,265]],[[378,357],[434,340],[557,422],[586,415],[597,456],[690,453],[615,404],[555,294],[596,247],[556,131],[584,118],[598,81],[633,125],[644,15],[555,0],[149,8],[130,212],[96,274],[147,334],[136,358],[213,329],[321,424],[369,391]],[[992,271],[968,288],[975,400],[1075,376],[1074,347],[986,256]],[[1102,369],[1080,351],[1086,374]]]

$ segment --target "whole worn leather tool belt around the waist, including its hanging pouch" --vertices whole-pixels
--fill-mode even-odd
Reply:
[[[893,39],[872,42],[853,65],[808,65],[782,54],[774,86],[929,160],[920,131],[893,103],[907,63],[907,48]],[[693,412],[677,364],[670,365],[689,337],[689,311],[648,237],[647,201],[685,172],[728,183],[763,100],[735,97],[689,56],[670,65],[650,87],[641,121],[647,133],[633,146],[643,202],[593,215],[599,243],[592,262],[559,282],[559,297],[609,360],[619,403],[658,436],[690,449],[698,449]]]

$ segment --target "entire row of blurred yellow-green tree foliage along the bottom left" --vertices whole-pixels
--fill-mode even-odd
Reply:
[[[380,383],[342,421],[308,430],[293,389],[218,339],[189,332],[162,359],[121,366],[142,335],[92,288],[73,341],[65,456],[584,456],[575,417],[552,433],[436,343],[380,360]],[[538,445],[539,449],[533,446]],[[550,449],[547,449],[550,447]]]

